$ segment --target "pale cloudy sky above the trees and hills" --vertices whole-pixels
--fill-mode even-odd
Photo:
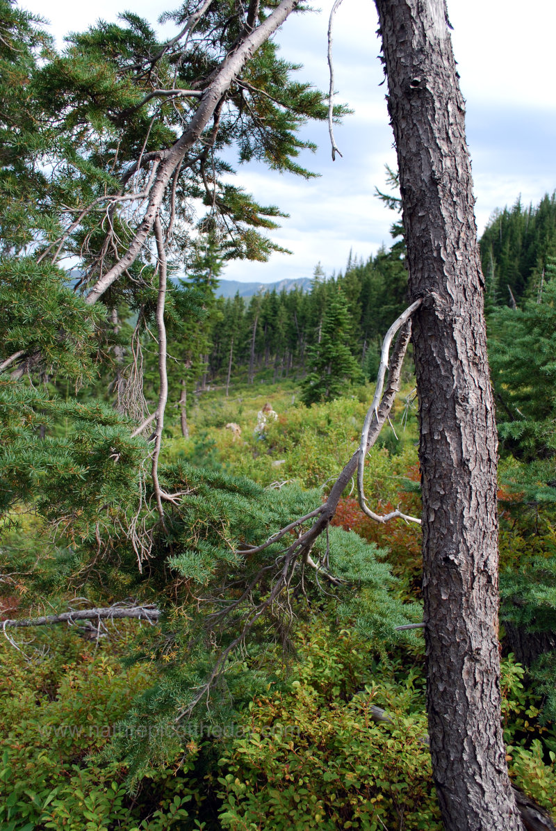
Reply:
[[[116,19],[131,8],[155,24],[168,6],[154,0],[27,0],[21,2],[52,24],[62,46],[66,32],[79,31],[97,18]],[[288,19],[276,37],[283,57],[303,63],[303,80],[327,89],[327,17],[322,12]],[[554,94],[554,0],[448,0],[452,41],[460,83],[467,101],[467,139],[473,160],[475,214],[479,232],[495,208],[534,204],[556,189],[556,96]],[[231,263],[225,278],[270,283],[308,277],[317,262],[327,273],[344,268],[350,248],[367,259],[391,242],[393,215],[376,199],[385,185],[384,165],[396,165],[388,125],[386,86],[376,39],[371,0],[344,0],[334,32],[337,101],[354,110],[336,129],[343,158],[332,163],[327,125],[308,125],[317,142],[315,155],[302,163],[321,174],[307,182],[248,164],[237,176],[262,204],[277,204],[290,214],[273,239],[293,256],[273,254],[268,263]]]

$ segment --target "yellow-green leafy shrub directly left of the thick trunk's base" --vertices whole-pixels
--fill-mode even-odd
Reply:
[[[226,829],[441,829],[422,691],[381,679],[352,633],[307,633],[288,690],[249,707],[222,757]],[[375,675],[370,672],[374,665]],[[381,706],[392,723],[376,723]]]

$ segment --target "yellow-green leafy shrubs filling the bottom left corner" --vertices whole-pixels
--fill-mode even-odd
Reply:
[[[131,796],[120,762],[96,753],[138,692],[152,682],[144,666],[122,669],[126,628],[106,647],[62,627],[39,632],[23,652],[0,644],[0,828],[2,831],[194,829],[203,799],[184,773],[155,772]],[[18,638],[18,640],[21,640]],[[193,768],[185,765],[185,773]]]

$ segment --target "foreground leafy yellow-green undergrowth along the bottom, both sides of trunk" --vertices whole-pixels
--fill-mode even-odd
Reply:
[[[192,731],[175,764],[130,794],[125,764],[97,751],[152,676],[122,669],[130,632],[112,635],[96,647],[57,629],[22,644],[23,661],[2,644],[2,829],[440,831],[421,636],[381,659],[352,628],[315,618],[296,637],[295,660],[278,667],[234,730]],[[511,656],[502,691],[512,777],[556,817],[556,734],[539,725],[539,697]],[[389,721],[374,720],[376,707]]]

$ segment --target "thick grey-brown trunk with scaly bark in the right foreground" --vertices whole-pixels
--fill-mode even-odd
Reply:
[[[421,413],[432,768],[449,831],[517,831],[500,722],[497,440],[464,101],[444,0],[376,0]]]

